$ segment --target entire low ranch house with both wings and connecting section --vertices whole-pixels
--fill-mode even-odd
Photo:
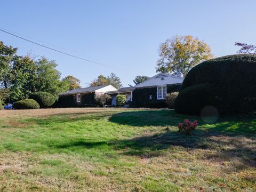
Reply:
[[[179,91],[183,77],[159,73],[134,87],[117,90],[112,85],[102,85],[70,90],[59,95],[58,107],[94,107],[95,94],[109,94],[111,105],[116,106],[116,96],[126,95],[126,102],[132,107],[165,107],[165,95]]]

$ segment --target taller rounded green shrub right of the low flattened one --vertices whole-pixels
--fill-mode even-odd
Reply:
[[[49,108],[56,101],[56,98],[51,93],[47,93],[47,92],[32,93],[29,96],[29,99],[34,99],[35,101],[37,101],[41,108]]]

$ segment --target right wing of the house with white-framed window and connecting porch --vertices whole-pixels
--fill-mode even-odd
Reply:
[[[181,75],[159,73],[134,87],[123,87],[107,93],[113,98],[111,102],[113,106],[116,105],[116,95],[125,94],[126,101],[133,101],[134,107],[153,107],[151,106],[153,103],[156,107],[158,104],[162,105],[159,107],[163,107],[166,93],[179,91],[183,79]]]

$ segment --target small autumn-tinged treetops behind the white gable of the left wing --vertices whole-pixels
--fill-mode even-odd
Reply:
[[[97,79],[94,79],[90,86],[100,86],[100,85],[113,85],[116,89],[121,88],[123,85],[120,81],[120,78],[116,76],[116,74],[111,73],[110,76],[105,77],[103,75],[99,75]]]

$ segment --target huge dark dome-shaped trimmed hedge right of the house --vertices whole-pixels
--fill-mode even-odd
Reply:
[[[175,110],[185,114],[199,114],[197,105],[201,103],[199,108],[212,105],[221,114],[256,111],[254,74],[256,55],[236,54],[204,61],[192,68],[184,79]],[[204,86],[197,87],[199,84]],[[200,99],[202,102],[198,102]],[[185,111],[185,104],[182,103],[187,103],[190,108]]]

